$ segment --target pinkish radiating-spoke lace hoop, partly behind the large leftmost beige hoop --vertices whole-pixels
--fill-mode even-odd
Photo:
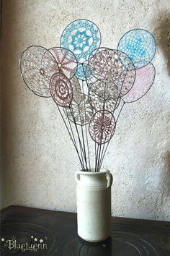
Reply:
[[[49,51],[58,63],[59,72],[65,74],[68,79],[71,79],[76,73],[76,56],[68,49],[61,47],[50,48]]]

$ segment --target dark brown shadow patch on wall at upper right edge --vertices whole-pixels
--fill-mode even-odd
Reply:
[[[158,25],[155,28],[156,43],[161,48],[164,58],[167,60],[167,69],[170,75],[170,12],[162,12],[158,17]]]

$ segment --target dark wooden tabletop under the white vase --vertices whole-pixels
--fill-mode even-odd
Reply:
[[[12,205],[1,210],[1,255],[170,256],[170,223],[112,218],[112,236],[89,243],[76,234],[75,213]]]

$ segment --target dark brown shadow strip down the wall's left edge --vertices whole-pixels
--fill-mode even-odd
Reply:
[[[19,15],[17,13],[19,1],[2,1],[1,7],[1,207],[14,204],[17,200],[16,176],[18,169],[16,166],[17,154],[16,141],[18,140],[17,119],[17,94],[14,86],[15,75],[18,75],[18,59],[16,55],[19,43],[16,42],[16,30],[19,25]],[[11,13],[9,12],[11,11]],[[21,21],[22,22],[22,21]],[[16,61],[16,62],[14,62]],[[9,75],[10,70],[10,75]],[[12,140],[13,138],[13,140]],[[13,173],[12,173],[13,168]],[[14,200],[15,201],[15,200]],[[16,202],[16,201],[15,201]]]

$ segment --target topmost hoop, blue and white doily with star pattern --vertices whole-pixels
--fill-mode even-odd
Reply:
[[[101,43],[101,33],[97,25],[89,20],[71,22],[61,35],[61,47],[73,52],[79,63],[87,61],[89,55]]]

